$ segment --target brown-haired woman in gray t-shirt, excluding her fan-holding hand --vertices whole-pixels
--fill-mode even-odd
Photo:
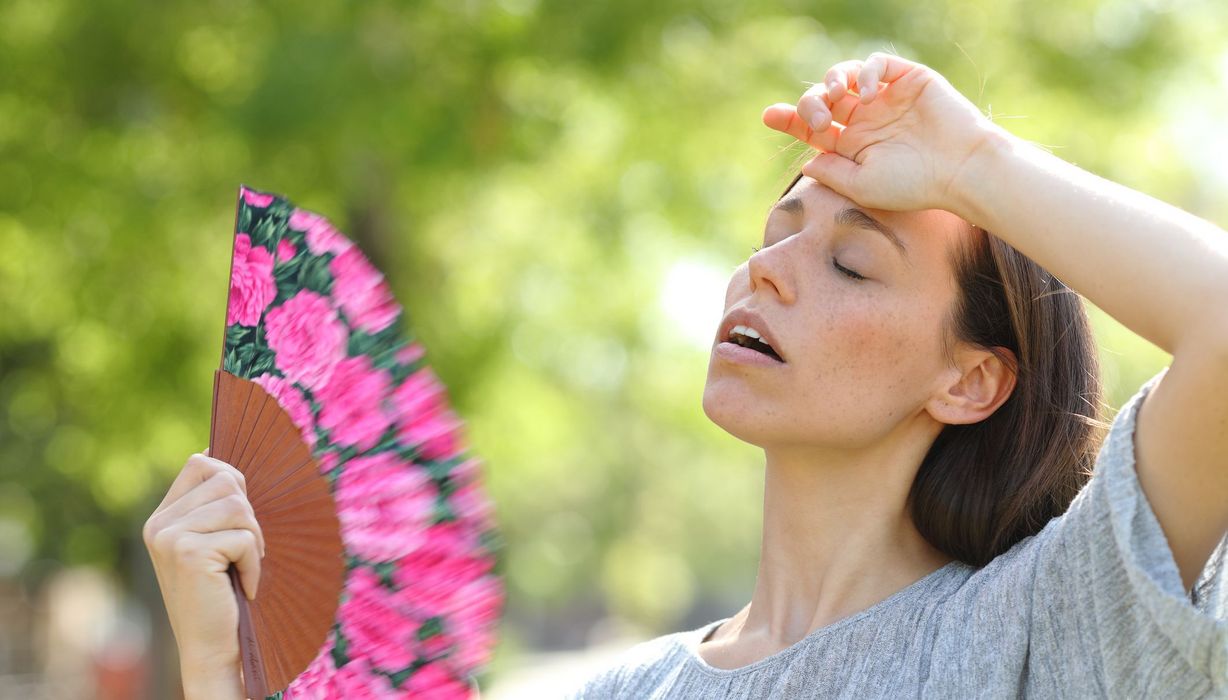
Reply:
[[[1228,698],[1228,235],[894,55],[764,122],[819,155],[704,392],[766,457],[755,588],[573,696]],[[1103,445],[1071,290],[1173,355]]]

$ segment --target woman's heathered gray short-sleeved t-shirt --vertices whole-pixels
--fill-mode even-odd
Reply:
[[[1070,508],[989,565],[952,562],[749,666],[636,645],[569,698],[1228,698],[1228,537],[1185,593],[1117,413]]]

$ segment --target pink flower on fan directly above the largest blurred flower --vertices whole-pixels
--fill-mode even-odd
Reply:
[[[383,410],[391,386],[388,372],[372,368],[366,355],[341,360],[328,383],[316,392],[319,426],[338,445],[371,449],[391,422]]]

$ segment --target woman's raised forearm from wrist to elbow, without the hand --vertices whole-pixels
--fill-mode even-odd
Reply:
[[[989,144],[955,185],[955,214],[1167,352],[1228,339],[1228,233],[1019,139]]]

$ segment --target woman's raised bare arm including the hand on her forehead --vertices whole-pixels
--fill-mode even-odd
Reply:
[[[1135,445],[1189,589],[1228,531],[1228,233],[1012,136],[899,56],[837,64],[764,123],[820,150],[802,172],[833,190],[982,226],[1173,355]]]

